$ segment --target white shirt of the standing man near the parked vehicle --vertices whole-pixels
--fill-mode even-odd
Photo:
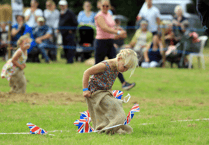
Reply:
[[[148,21],[148,30],[150,32],[157,31],[157,18],[160,18],[160,11],[155,6],[152,6],[150,9],[147,7],[142,8],[139,11],[138,16],[143,17]]]

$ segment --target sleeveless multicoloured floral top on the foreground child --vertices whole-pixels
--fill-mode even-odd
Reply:
[[[102,61],[106,65],[103,73],[92,75],[89,81],[88,89],[91,93],[97,90],[110,90],[118,76],[118,71],[111,70],[107,61]]]

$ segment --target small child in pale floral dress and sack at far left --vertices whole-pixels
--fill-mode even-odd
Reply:
[[[13,93],[25,93],[26,78],[23,69],[26,67],[27,49],[30,48],[30,43],[31,39],[28,34],[21,36],[17,41],[19,48],[2,68],[1,78],[9,81]]]

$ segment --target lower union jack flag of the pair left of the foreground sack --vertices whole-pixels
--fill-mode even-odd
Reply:
[[[78,133],[90,133],[93,132],[94,129],[89,125],[90,118],[87,119],[79,119],[74,122],[74,125],[78,126]]]

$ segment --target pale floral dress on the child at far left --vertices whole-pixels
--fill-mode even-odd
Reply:
[[[25,64],[26,60],[27,60],[27,54],[25,55],[22,51],[21,48],[19,48],[15,53],[17,53],[18,51],[21,51],[22,55],[19,57],[19,59],[17,60],[17,62],[19,64]],[[1,76],[4,76],[5,78],[7,78],[7,80],[9,81],[10,78],[12,77],[12,75],[18,70],[20,69],[19,67],[16,67],[15,65],[13,65],[12,63],[12,58],[9,59],[7,61],[7,63],[3,66],[2,68],[2,72],[1,72]]]

